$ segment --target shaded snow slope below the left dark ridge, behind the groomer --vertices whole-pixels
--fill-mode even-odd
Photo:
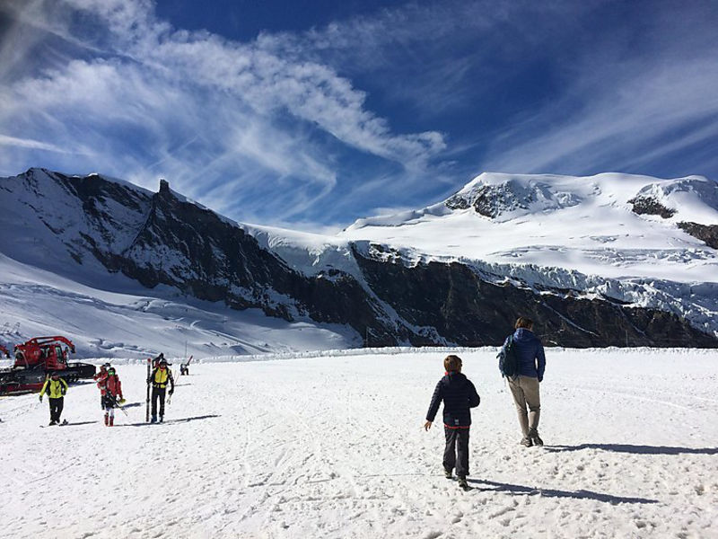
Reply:
[[[146,358],[159,352],[167,358],[211,358],[361,344],[343,325],[289,323],[258,309],[236,311],[170,287],[148,290],[122,275],[103,275],[102,287],[90,287],[0,255],[0,344],[12,349],[31,337],[64,335],[73,340],[78,358]]]

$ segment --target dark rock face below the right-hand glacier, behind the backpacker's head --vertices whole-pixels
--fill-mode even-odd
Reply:
[[[561,346],[718,345],[674,314],[558,291],[538,295],[529,288],[495,285],[460,263],[407,267],[397,259],[375,261],[359,252],[355,257],[372,290],[402,318],[433,326],[461,346],[501,344],[519,315],[537,322],[545,342]],[[416,338],[412,343],[428,344]]]

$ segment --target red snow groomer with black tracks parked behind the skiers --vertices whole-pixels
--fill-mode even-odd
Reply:
[[[0,394],[39,391],[53,371],[68,384],[95,374],[94,365],[67,362],[70,353],[74,354],[74,344],[65,337],[35,337],[15,345],[14,352],[13,367],[0,369]]]

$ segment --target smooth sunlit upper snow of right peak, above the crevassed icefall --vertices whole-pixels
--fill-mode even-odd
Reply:
[[[636,214],[631,201],[642,198],[673,215]],[[718,282],[718,252],[681,230],[681,222],[718,225],[715,181],[484,173],[440,204],[360,219],[340,237],[424,258],[530,264],[602,278]]]

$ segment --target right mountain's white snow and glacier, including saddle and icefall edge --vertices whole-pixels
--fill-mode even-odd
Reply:
[[[309,275],[357,275],[352,249],[407,266],[459,262],[496,284],[656,308],[715,333],[718,244],[685,224],[718,238],[715,181],[483,173],[443,202],[359,219],[334,238],[243,226]]]

